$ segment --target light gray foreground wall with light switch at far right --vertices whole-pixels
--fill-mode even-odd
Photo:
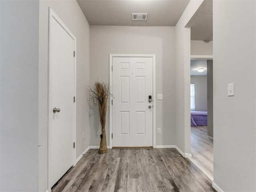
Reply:
[[[213,1],[213,29],[214,184],[256,191],[256,1]]]

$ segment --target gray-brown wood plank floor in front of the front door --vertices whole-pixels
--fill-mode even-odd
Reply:
[[[53,192],[212,192],[210,180],[174,148],[90,149]]]

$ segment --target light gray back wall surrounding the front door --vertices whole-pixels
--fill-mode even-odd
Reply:
[[[90,85],[109,82],[109,54],[156,54],[156,145],[174,145],[174,27],[90,26]],[[98,108],[90,110],[90,145],[100,144]],[[106,136],[109,144],[109,116]]]

